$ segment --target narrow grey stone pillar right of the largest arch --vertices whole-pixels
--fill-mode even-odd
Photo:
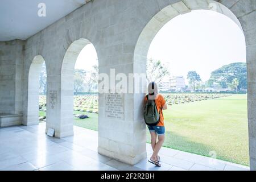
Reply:
[[[240,6],[245,7],[245,10],[248,11],[243,12],[239,20],[246,40],[250,169],[256,170],[256,28],[254,25],[256,11],[253,9],[255,6],[251,6],[249,1],[241,1],[240,3],[242,3]]]

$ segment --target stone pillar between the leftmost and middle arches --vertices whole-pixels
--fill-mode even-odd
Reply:
[[[67,110],[67,101],[65,95],[67,90],[61,89],[61,63],[63,53],[51,53],[47,60],[55,60],[56,64],[48,68],[47,71],[47,115],[46,132],[49,128],[55,130],[55,137],[63,138],[73,135],[73,103],[69,102]],[[65,80],[65,82],[71,82]],[[73,90],[72,90],[73,92]],[[71,100],[73,94],[71,94]],[[71,116],[71,117],[70,117]]]

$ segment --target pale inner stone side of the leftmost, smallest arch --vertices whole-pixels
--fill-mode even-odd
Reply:
[[[32,60],[28,72],[28,93],[27,93],[27,119],[23,125],[36,125],[39,123],[39,76],[44,58],[36,55]]]

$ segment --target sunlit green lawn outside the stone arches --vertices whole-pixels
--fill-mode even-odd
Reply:
[[[246,103],[246,95],[232,95],[168,106],[164,110],[164,146],[204,156],[214,151],[217,159],[249,166]],[[74,125],[97,131],[98,114],[86,115],[90,118],[75,118]]]

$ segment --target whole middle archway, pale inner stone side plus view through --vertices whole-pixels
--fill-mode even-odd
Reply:
[[[96,50],[86,39],[74,41],[65,53],[61,68],[61,122],[67,131],[74,123],[98,129],[98,63],[97,59],[92,60],[95,57]]]

